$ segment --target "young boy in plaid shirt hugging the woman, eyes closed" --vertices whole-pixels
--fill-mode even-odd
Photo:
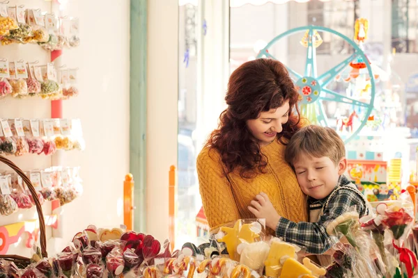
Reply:
[[[328,127],[305,126],[293,135],[285,152],[302,191],[308,195],[310,222],[291,222],[281,217],[265,193],[256,195],[249,211],[275,229],[288,243],[306,247],[307,253],[323,254],[334,245],[326,225],[355,206],[360,218],[369,214],[368,202],[343,175],[347,160],[344,143]],[[322,263],[322,260],[321,260]]]

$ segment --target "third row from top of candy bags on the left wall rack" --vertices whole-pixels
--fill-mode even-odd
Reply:
[[[79,120],[49,119],[0,121],[0,153],[51,155],[57,149],[65,151],[84,149]]]

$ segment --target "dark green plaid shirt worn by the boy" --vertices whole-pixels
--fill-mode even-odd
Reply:
[[[362,193],[358,190],[355,192],[355,190],[341,188],[348,184],[350,184],[350,181],[341,175],[334,188],[334,190],[338,190],[338,193],[332,194],[334,193],[333,190],[328,197],[320,200],[308,197],[309,211],[322,209],[328,202],[320,219],[314,223],[295,223],[286,218],[281,218],[277,224],[276,236],[288,243],[306,247],[306,252],[311,254],[323,254],[329,250],[336,243],[335,239],[328,235],[326,231],[327,224],[330,221],[350,211],[351,206],[356,206],[360,218],[363,215],[369,214],[369,208],[366,200],[362,197]],[[332,197],[330,198],[330,196]]]

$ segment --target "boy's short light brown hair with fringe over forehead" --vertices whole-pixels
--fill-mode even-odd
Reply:
[[[301,154],[316,158],[327,156],[337,165],[341,158],[346,156],[346,147],[334,129],[309,125],[302,127],[292,136],[284,158],[293,166]]]

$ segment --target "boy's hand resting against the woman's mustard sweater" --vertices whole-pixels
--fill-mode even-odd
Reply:
[[[281,216],[274,209],[272,202],[270,202],[270,199],[268,199],[268,196],[265,193],[256,195],[256,198],[251,201],[251,206],[249,206],[248,209],[256,216],[256,218],[265,218],[267,227],[274,230],[276,229]]]

